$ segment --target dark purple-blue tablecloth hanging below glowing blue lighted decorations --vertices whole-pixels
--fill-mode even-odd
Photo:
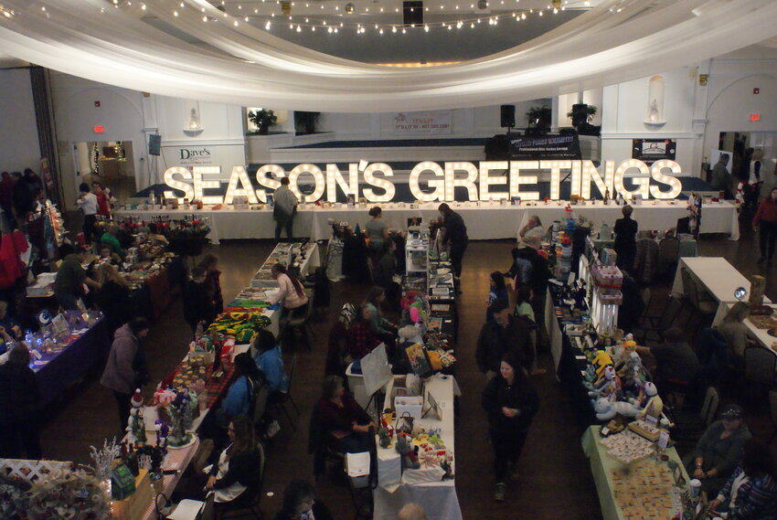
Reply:
[[[64,388],[80,381],[92,366],[105,360],[110,350],[108,324],[100,318],[61,352],[42,354],[39,360],[35,359],[32,368],[43,402],[53,401]],[[36,365],[36,361],[45,364]]]

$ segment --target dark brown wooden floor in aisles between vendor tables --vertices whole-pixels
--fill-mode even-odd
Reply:
[[[774,276],[777,269],[761,270],[752,232],[742,229],[739,242],[727,239],[703,239],[700,256],[725,256],[746,276],[768,275],[767,295],[777,301]],[[521,458],[521,479],[510,483],[504,504],[492,500],[494,477],[493,452],[485,439],[485,415],[480,407],[484,377],[474,364],[474,346],[484,323],[484,301],[491,271],[506,271],[512,240],[472,242],[464,258],[463,294],[460,296],[460,328],[457,345],[457,379],[462,388],[461,417],[456,426],[456,489],[465,520],[480,519],[577,519],[601,518],[599,503],[588,462],[580,447],[582,431],[575,423],[568,399],[555,378],[548,374],[534,377],[541,406]],[[252,276],[272,249],[269,241],[229,241],[212,250],[221,259],[225,301],[234,296]],[[665,282],[665,286],[668,283]],[[262,509],[273,515],[281,504],[282,490],[293,477],[309,478],[312,461],[307,453],[307,424],[319,398],[324,377],[326,338],[335,319],[335,310],[344,302],[359,302],[367,286],[347,282],[335,284],[329,316],[314,324],[312,352],[300,355],[298,376],[293,381],[293,397],[301,415],[297,430],[282,421],[282,432],[271,447]],[[189,329],[183,320],[181,302],[173,306],[155,324],[145,343],[151,378],[164,377],[186,351]],[[541,366],[551,366],[548,353],[541,353]],[[96,371],[99,372],[99,371]],[[97,382],[99,374],[74,388],[62,401],[48,410],[43,430],[43,451],[55,460],[89,462],[89,446],[99,445],[106,437],[119,433],[112,394]],[[153,388],[146,388],[146,392]],[[768,409],[748,409],[748,422],[756,434],[771,435]],[[335,518],[352,518],[355,510],[346,484],[327,476],[318,483],[319,496],[335,513]]]

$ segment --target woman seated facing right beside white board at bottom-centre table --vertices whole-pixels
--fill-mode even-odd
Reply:
[[[324,393],[317,407],[322,435],[334,436],[340,451],[346,453],[369,451],[370,436],[374,434],[375,422],[346,392],[340,377],[325,378]]]

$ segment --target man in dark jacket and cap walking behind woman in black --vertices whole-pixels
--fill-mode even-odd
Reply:
[[[502,356],[511,352],[528,373],[534,362],[534,352],[527,324],[510,313],[509,303],[504,299],[496,300],[491,307],[494,320],[483,325],[477,338],[475,358],[478,368],[491,379],[499,373]]]

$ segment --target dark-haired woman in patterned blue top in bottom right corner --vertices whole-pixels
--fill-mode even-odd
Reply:
[[[726,520],[777,518],[777,469],[769,446],[745,440],[742,463],[709,503],[709,515]]]

